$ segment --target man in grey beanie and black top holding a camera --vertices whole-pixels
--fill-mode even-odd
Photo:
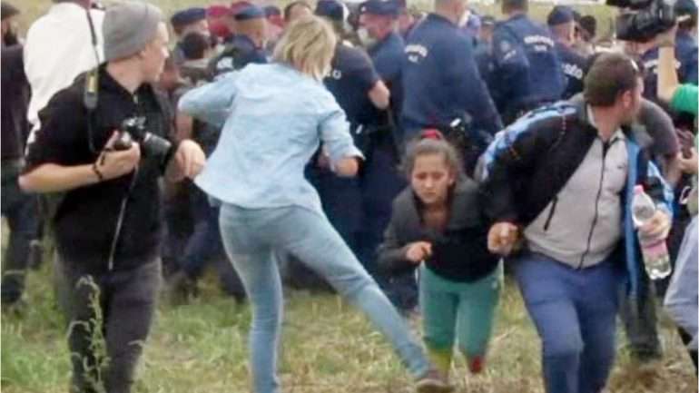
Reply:
[[[115,5],[103,35],[106,64],[56,93],[40,113],[20,186],[53,194],[72,391],[121,393],[133,384],[160,280],[158,178],[192,178],[205,158],[195,142],[163,139],[170,121],[151,86],[168,56],[160,10]],[[106,362],[95,349],[102,334]]]

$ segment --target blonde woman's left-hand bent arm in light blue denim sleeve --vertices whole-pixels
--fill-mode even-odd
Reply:
[[[182,113],[222,127],[228,119],[233,98],[235,98],[236,73],[224,74],[211,84],[204,84],[185,93],[178,109]]]

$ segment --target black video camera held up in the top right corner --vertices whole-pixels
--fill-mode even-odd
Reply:
[[[674,26],[674,6],[667,0],[607,0],[606,5],[625,8],[616,17],[616,38],[645,43]]]

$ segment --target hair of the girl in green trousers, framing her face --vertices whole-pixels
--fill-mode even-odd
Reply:
[[[457,149],[444,139],[444,136],[437,130],[427,130],[418,140],[410,142],[406,152],[405,160],[403,160],[403,171],[410,179],[415,162],[418,157],[429,154],[439,154],[447,162],[447,166],[454,172],[454,177],[457,182],[464,176],[463,164]]]

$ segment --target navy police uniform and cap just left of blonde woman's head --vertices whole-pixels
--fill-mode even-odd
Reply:
[[[245,21],[254,18],[264,18],[264,11],[256,5],[243,8],[235,15],[236,21]],[[241,70],[246,65],[267,63],[267,54],[252,42],[251,38],[244,34],[234,34],[221,54],[212,59],[210,73],[220,75],[231,71]]]

